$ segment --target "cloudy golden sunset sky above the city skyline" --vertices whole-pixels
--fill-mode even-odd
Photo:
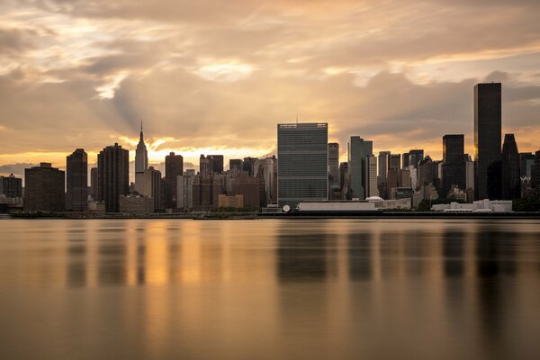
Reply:
[[[502,82],[503,133],[540,147],[537,0],[0,0],[0,173],[85,148],[262,157],[276,124],[329,122],[374,151],[464,133]],[[504,136],[503,136],[504,138]],[[191,164],[188,164],[191,166]]]

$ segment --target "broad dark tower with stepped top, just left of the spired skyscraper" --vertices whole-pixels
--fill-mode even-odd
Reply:
[[[97,155],[98,196],[105,211],[120,211],[120,195],[129,193],[130,152],[115,143]]]

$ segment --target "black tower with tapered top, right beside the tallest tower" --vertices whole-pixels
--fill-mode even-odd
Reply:
[[[505,134],[502,145],[502,199],[518,199],[521,196],[520,187],[518,144],[514,134]]]

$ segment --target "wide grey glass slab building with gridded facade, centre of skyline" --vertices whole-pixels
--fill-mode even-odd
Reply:
[[[328,200],[328,139],[328,123],[277,125],[277,201],[280,207],[285,204],[294,207],[306,200]]]

